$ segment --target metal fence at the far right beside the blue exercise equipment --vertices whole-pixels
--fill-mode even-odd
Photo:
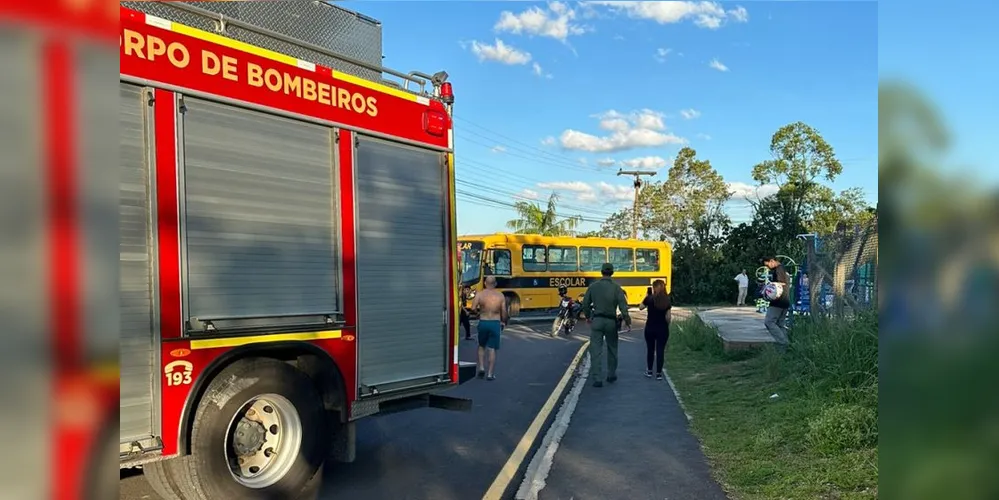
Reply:
[[[809,312],[850,314],[877,307],[877,219],[833,234],[807,235],[801,301]]]

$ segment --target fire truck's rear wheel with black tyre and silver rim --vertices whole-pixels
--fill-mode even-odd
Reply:
[[[237,361],[198,405],[190,473],[209,500],[314,498],[329,453],[326,419],[305,373],[274,359]]]

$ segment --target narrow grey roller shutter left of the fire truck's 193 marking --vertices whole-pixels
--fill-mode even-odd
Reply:
[[[140,87],[120,84],[118,243],[121,293],[121,442],[140,441],[153,432],[153,259],[149,196],[151,168],[146,160],[147,119],[152,107]]]

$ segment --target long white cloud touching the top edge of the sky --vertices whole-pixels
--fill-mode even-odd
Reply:
[[[694,25],[705,29],[718,29],[728,22],[744,23],[749,21],[749,11],[737,6],[725,10],[717,2],[619,2],[592,1],[584,2],[587,6],[603,6],[614,12],[624,13],[635,19],[648,19],[659,24],[675,24],[693,21]]]

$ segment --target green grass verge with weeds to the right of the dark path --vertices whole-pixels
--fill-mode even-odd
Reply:
[[[733,498],[877,498],[877,329],[798,319],[786,353],[725,353],[696,316],[674,322],[667,371]]]

